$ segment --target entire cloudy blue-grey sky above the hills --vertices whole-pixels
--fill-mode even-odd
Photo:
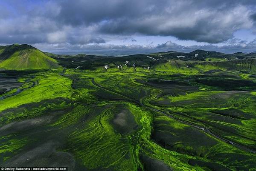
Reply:
[[[256,51],[255,0],[1,0],[0,44],[58,54]]]

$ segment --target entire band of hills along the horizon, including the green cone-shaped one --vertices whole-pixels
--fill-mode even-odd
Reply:
[[[192,63],[202,62],[217,62],[218,66],[230,67],[233,63],[245,63],[245,60],[255,61],[256,52],[250,54],[245,54],[243,52],[224,54],[216,51],[195,50],[189,53],[167,51],[152,54],[134,54],[123,57],[113,57],[86,54],[58,55],[42,52],[37,48],[26,44],[0,46],[0,70],[40,70],[60,68],[62,66],[67,68],[100,71],[111,70],[111,68],[114,68],[113,71],[120,71],[125,68],[157,68],[160,67],[160,65],[166,65],[166,63],[176,63],[175,65],[179,68],[188,68],[188,64],[191,67]],[[217,64],[215,63],[214,65]]]

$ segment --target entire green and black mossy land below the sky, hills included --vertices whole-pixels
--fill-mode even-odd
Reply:
[[[1,166],[255,170],[253,54],[101,57],[33,49],[22,56],[24,68],[6,62],[20,60],[17,46],[0,54]],[[36,58],[40,65],[29,62]]]

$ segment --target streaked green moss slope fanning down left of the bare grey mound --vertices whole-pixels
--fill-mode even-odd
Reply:
[[[128,139],[114,132],[110,118],[111,110],[106,109],[88,121],[83,129],[70,134],[71,150],[87,168],[136,170]]]

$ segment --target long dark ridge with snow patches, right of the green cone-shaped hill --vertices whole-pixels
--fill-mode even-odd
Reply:
[[[153,54],[134,54],[122,57],[95,55],[51,55],[61,66],[90,71],[155,71],[205,72],[227,69],[243,72],[256,71],[256,54],[224,54],[216,51],[195,50],[189,53],[168,51]],[[107,68],[105,68],[105,66]]]

